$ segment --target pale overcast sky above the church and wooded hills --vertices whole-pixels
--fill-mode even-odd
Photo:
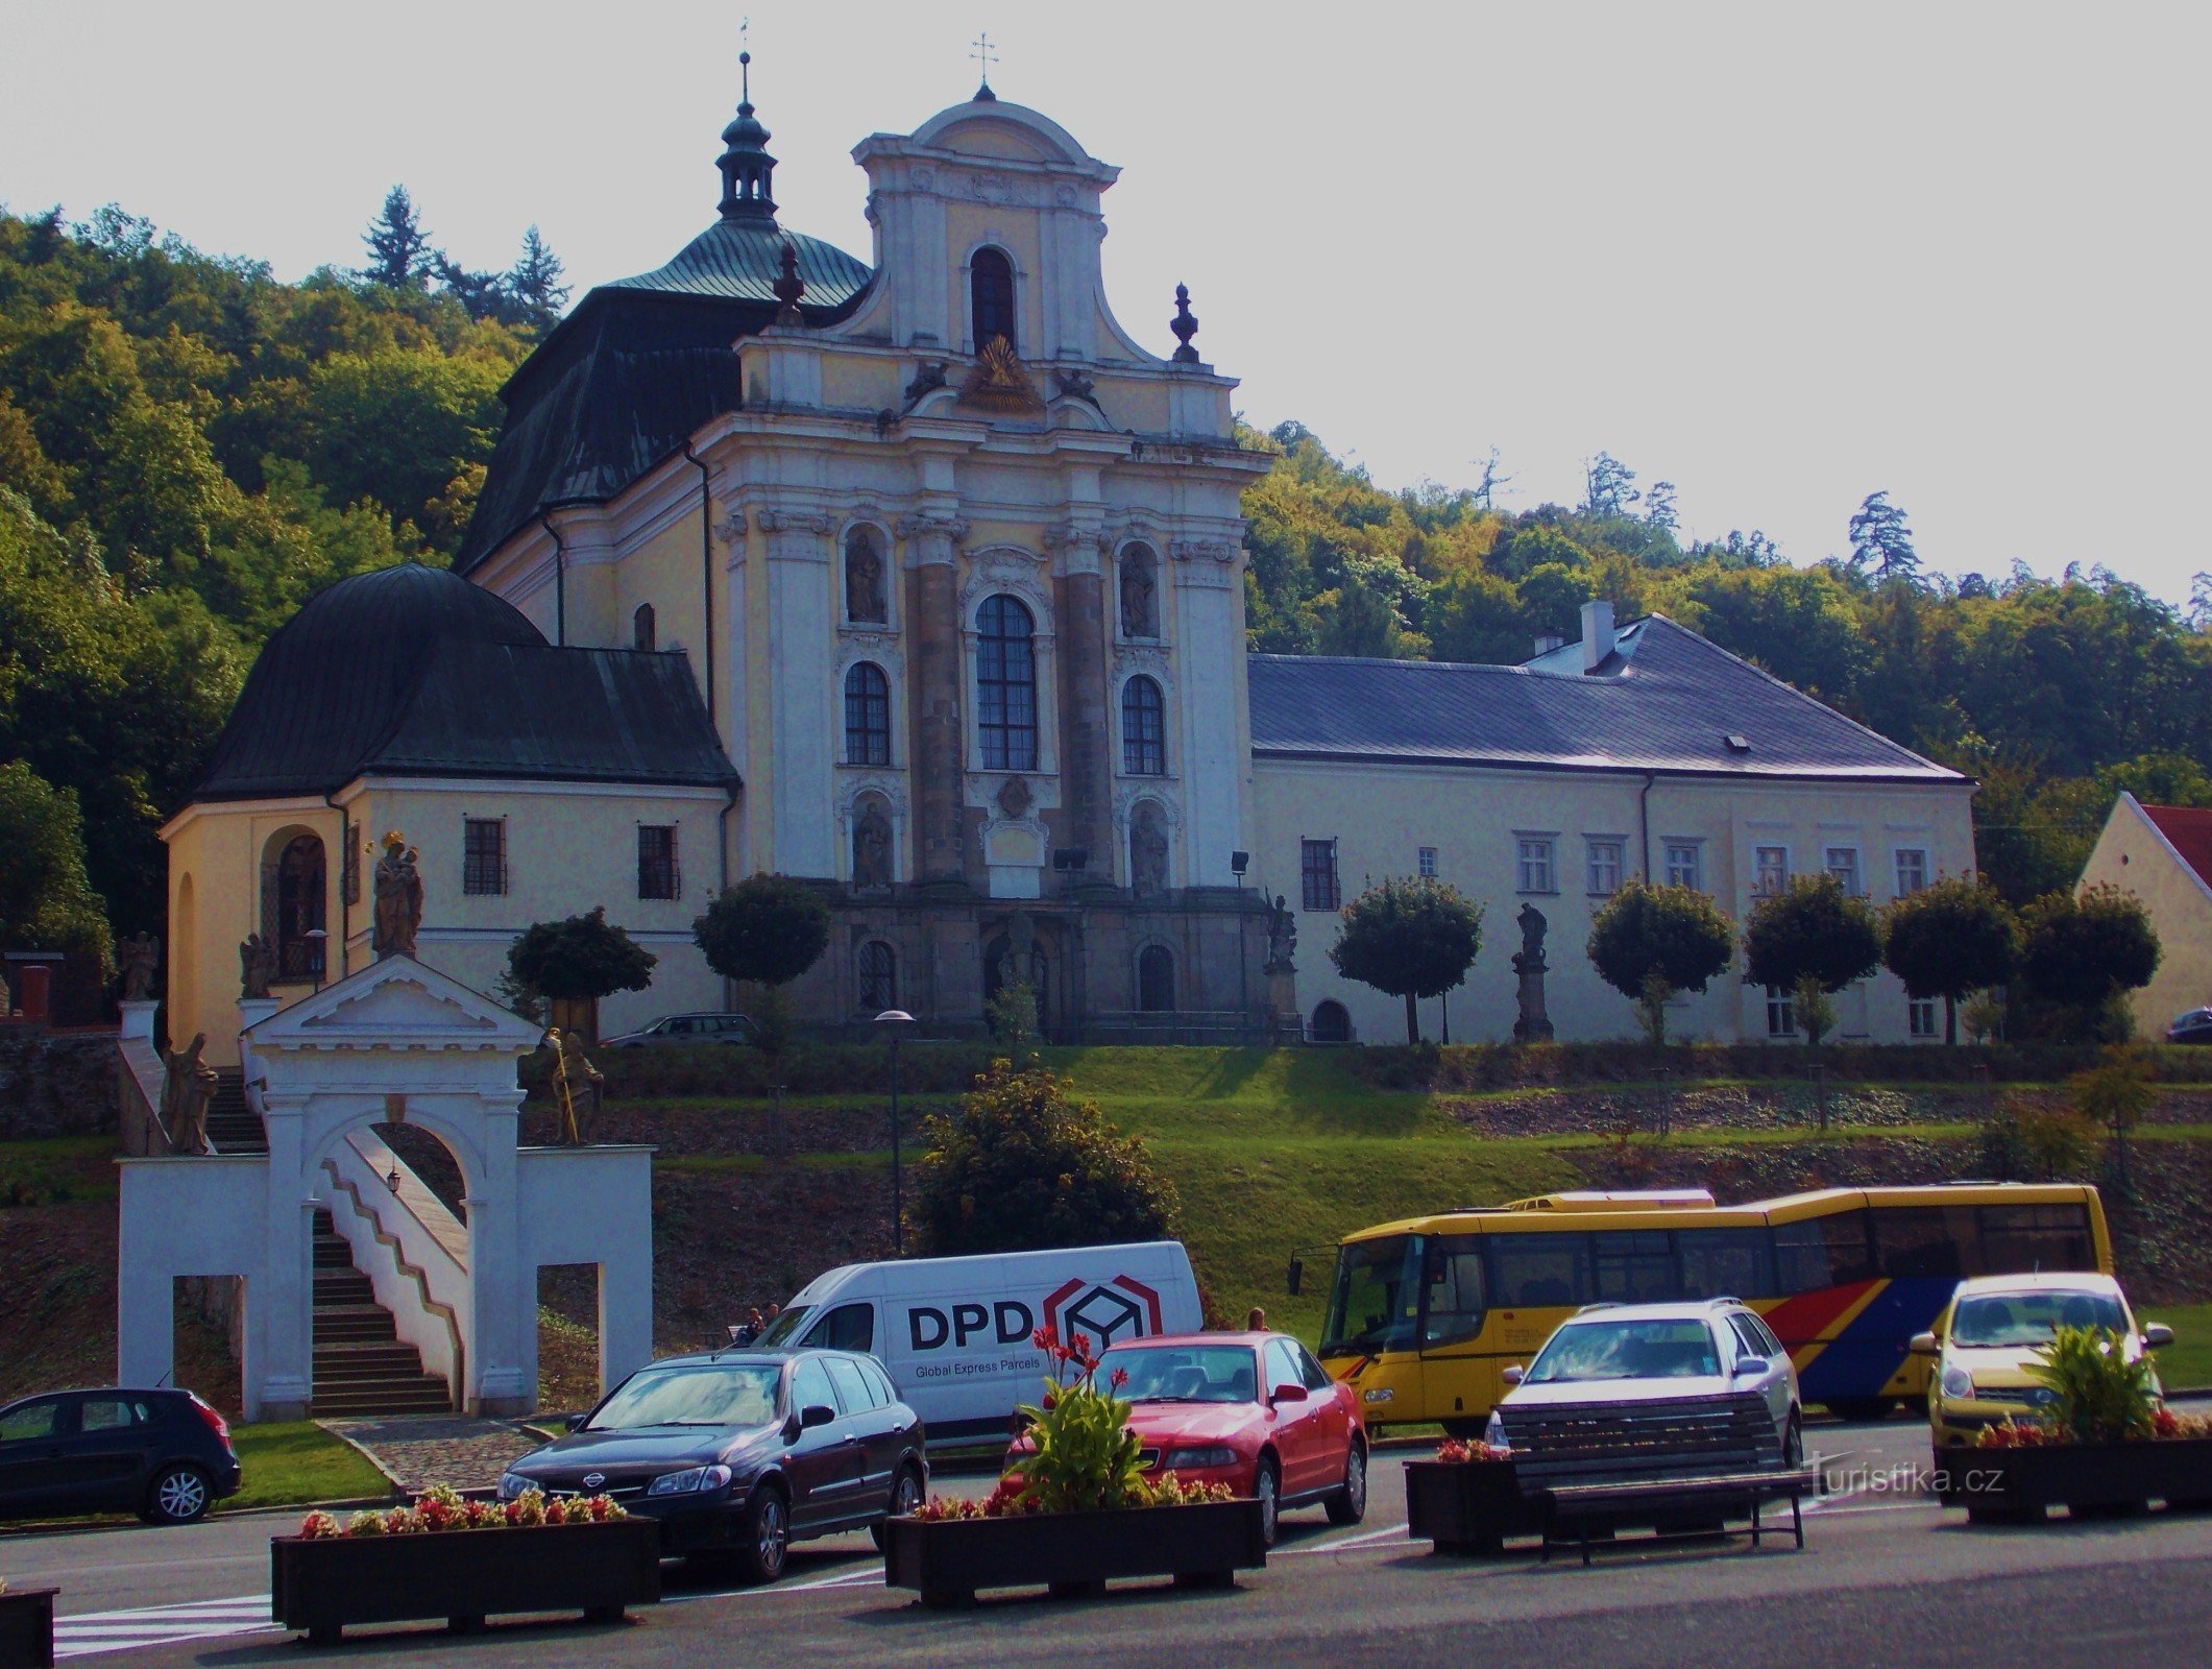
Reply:
[[[714,212],[734,4],[0,4],[0,201],[119,201],[281,277],[405,182],[471,266],[577,283]],[[1809,562],[1889,489],[1922,558],[2212,569],[2208,9],[754,4],[783,224],[863,259],[852,146],[998,91],[1124,168],[1106,279],[1261,425],[1376,483],[1573,500],[1599,449],[1686,531]]]

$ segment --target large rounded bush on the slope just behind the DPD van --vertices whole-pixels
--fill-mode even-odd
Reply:
[[[907,1211],[925,1255],[1108,1246],[1177,1231],[1175,1184],[1144,1140],[1121,1136],[1042,1067],[993,1060],[960,1111],[922,1131],[929,1151]]]

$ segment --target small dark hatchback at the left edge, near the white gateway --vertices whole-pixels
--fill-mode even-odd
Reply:
[[[237,1492],[230,1428],[188,1390],[58,1390],[0,1408],[0,1518],[188,1525]]]

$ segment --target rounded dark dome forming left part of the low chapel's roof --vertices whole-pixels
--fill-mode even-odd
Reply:
[[[316,591],[261,646],[192,799],[343,788],[400,728],[438,646],[456,642],[546,646],[511,602],[422,562]]]

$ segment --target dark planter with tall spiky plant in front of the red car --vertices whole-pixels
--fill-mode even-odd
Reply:
[[[938,1499],[885,1525],[885,1587],[911,1587],[922,1605],[964,1605],[984,1587],[1099,1594],[1119,1576],[1172,1576],[1230,1587],[1267,1563],[1259,1501],[1221,1485],[1186,1485],[1172,1472],[1144,1479],[1128,1403],[1095,1383],[1097,1357],[1077,1333],[1068,1344],[1037,1330],[1053,1381],[1024,1408],[1033,1450],[984,1501]]]

